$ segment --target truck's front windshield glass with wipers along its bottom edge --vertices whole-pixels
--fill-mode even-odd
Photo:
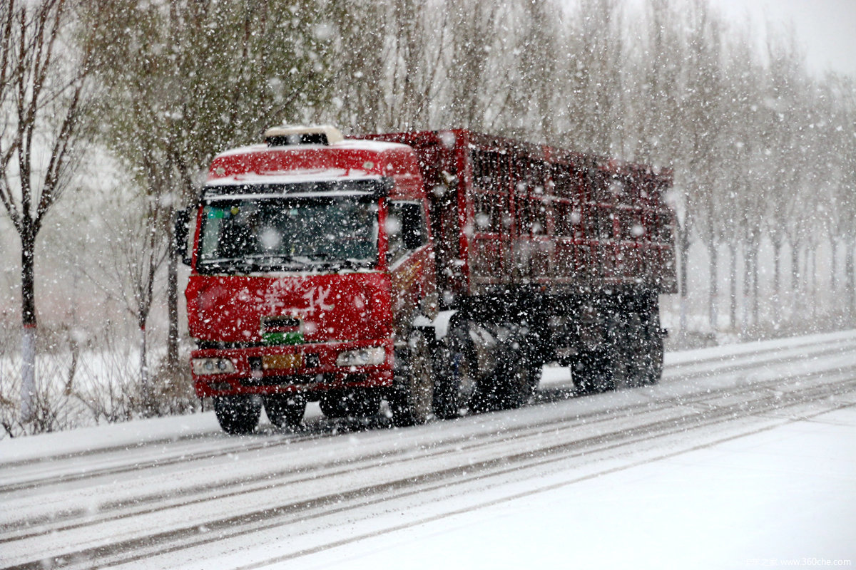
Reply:
[[[204,203],[201,273],[337,271],[377,264],[370,196],[217,197]]]

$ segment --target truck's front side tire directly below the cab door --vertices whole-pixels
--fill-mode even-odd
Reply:
[[[389,411],[395,426],[424,424],[434,416],[434,379],[431,348],[421,331],[413,331],[407,347],[395,353],[395,384],[389,392]]]

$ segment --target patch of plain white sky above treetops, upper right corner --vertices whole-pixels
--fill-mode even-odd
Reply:
[[[710,0],[710,4],[737,21],[748,15],[759,33],[764,33],[767,21],[793,23],[812,72],[831,69],[856,77],[856,0]]]

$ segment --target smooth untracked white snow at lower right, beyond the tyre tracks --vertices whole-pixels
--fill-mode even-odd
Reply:
[[[847,408],[607,473],[554,474],[498,498],[486,491],[481,508],[307,556],[301,567],[851,564],[854,432]]]

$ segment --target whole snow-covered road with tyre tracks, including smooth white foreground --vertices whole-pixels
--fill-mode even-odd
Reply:
[[[753,567],[856,559],[856,332],[407,429],[211,413],[0,441],[3,567]],[[802,564],[810,566],[810,564]],[[821,564],[823,565],[823,564]]]

